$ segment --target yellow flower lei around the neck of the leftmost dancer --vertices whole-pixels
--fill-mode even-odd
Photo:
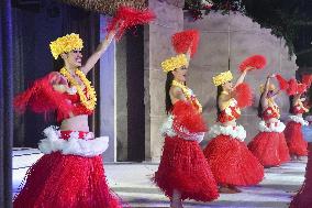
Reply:
[[[91,81],[88,80],[86,75],[81,70],[79,70],[78,68],[75,69],[75,74],[78,75],[78,77],[80,78],[80,80],[83,83],[83,85],[87,88],[89,99],[87,98],[86,94],[83,92],[81,86],[77,83],[77,80],[70,75],[70,73],[65,67],[63,67],[59,73],[63,76],[65,76],[67,78],[67,80],[69,80],[70,86],[76,87],[77,92],[78,92],[79,98],[80,98],[80,102],[88,110],[94,110],[96,105],[97,105],[97,94],[96,94],[94,88],[91,86]]]

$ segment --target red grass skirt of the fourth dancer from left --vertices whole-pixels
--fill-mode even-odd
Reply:
[[[259,132],[248,149],[265,167],[278,166],[290,158],[282,132]]]

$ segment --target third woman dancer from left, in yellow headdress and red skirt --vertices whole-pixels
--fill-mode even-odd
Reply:
[[[241,110],[234,98],[235,90],[243,83],[248,69],[250,67],[242,73],[234,87],[230,70],[213,77],[218,87],[216,109],[220,124],[213,125],[209,131],[212,140],[203,153],[222,193],[237,193],[239,190],[235,186],[256,185],[264,178],[263,165],[244,143],[246,131],[236,124]]]

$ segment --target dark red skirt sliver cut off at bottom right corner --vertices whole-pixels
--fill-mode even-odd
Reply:
[[[305,169],[305,180],[299,193],[293,197],[290,208],[312,207],[312,143],[309,144],[309,156]]]

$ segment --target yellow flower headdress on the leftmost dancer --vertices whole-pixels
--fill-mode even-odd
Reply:
[[[83,47],[83,42],[79,37],[79,34],[67,34],[63,37],[58,37],[56,41],[51,42],[49,48],[53,57],[57,57],[63,53],[68,53],[74,50],[81,50]]]

